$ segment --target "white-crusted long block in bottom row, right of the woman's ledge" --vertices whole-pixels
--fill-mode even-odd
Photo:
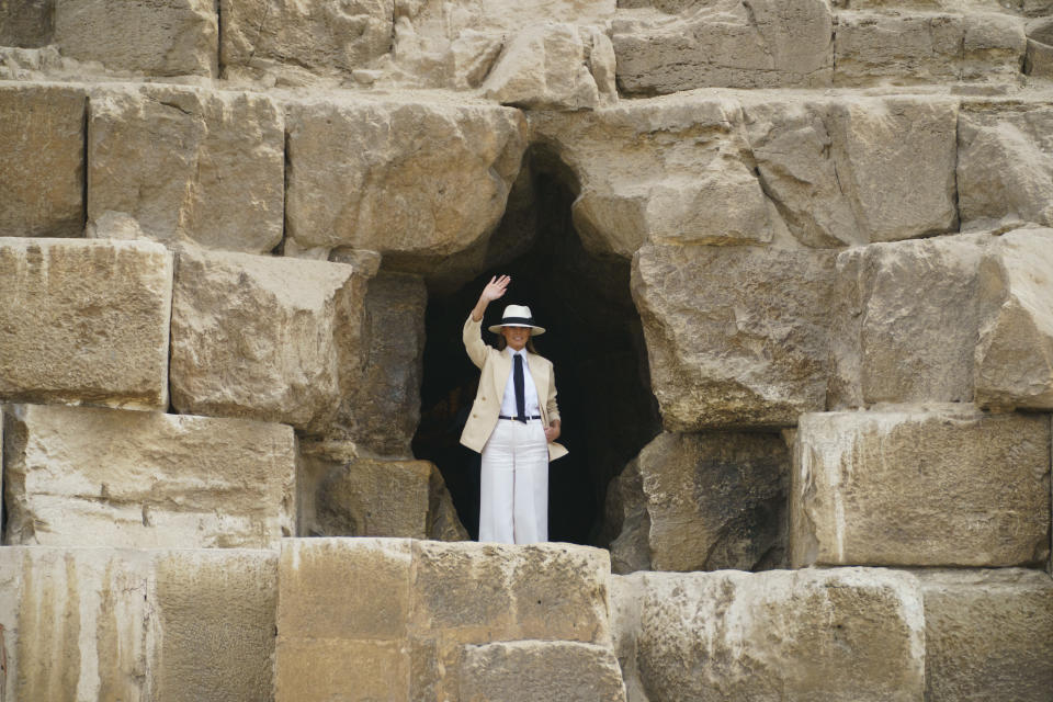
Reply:
[[[620,578],[619,656],[652,702],[917,701],[925,619],[917,579],[879,568]],[[627,631],[626,631],[627,630]],[[635,631],[634,631],[635,630]],[[623,663],[623,670],[632,671]],[[634,699],[631,694],[630,699]],[[635,698],[642,699],[642,698]]]

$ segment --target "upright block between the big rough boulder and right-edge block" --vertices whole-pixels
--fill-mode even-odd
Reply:
[[[935,237],[838,256],[829,407],[973,399],[978,265],[990,240]]]

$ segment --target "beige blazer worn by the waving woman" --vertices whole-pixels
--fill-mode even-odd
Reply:
[[[461,433],[461,443],[475,452],[482,453],[487,439],[497,427],[498,415],[501,414],[501,399],[505,397],[505,386],[508,375],[512,372],[512,359],[503,351],[498,351],[483,342],[483,322],[472,319],[468,315],[464,322],[464,349],[468,352],[472,363],[478,366],[483,374],[479,377],[479,389],[472,404],[472,414]],[[559,408],[556,406],[556,376],[552,370],[552,362],[536,353],[526,354],[526,366],[537,387],[537,399],[541,405],[541,421],[545,427],[559,419]],[[555,461],[567,454],[567,449],[558,443],[548,444],[548,461]]]

